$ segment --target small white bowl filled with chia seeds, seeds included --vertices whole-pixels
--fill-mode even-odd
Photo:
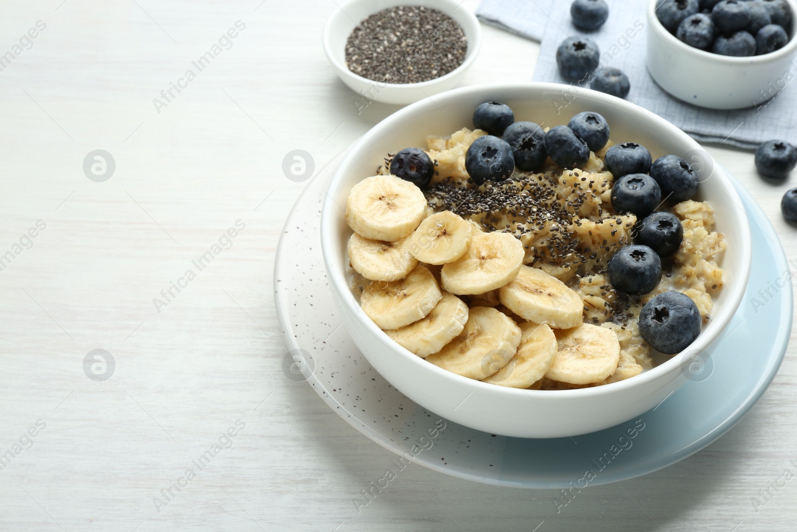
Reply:
[[[460,0],[350,0],[324,26],[329,62],[363,106],[453,89],[480,46],[481,26]]]

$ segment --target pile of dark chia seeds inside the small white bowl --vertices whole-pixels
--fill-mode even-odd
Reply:
[[[465,61],[468,40],[442,11],[396,6],[359,23],[346,42],[351,72],[384,83],[418,83],[445,76]]]

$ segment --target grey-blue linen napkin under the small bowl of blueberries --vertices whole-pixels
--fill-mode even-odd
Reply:
[[[792,61],[791,83],[758,108],[715,111],[685,104],[659,88],[645,66],[647,0],[607,3],[609,19],[590,33],[572,25],[570,0],[482,0],[476,14],[482,22],[541,41],[535,81],[567,83],[556,67],[556,48],[566,37],[587,35],[601,49],[601,66],[621,69],[630,78],[629,101],[664,117],[695,140],[739,148],[756,148],[775,138],[797,144],[797,60]],[[629,29],[636,31],[626,33]],[[634,37],[629,38],[631,34]]]

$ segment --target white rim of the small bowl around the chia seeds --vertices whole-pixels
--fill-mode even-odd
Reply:
[[[431,7],[431,9],[442,11],[443,14],[446,14],[450,18],[453,18],[452,16],[453,13],[459,10],[459,8],[462,5],[461,2],[456,2],[455,0],[433,0],[433,1],[446,4],[446,6]],[[348,17],[348,14],[346,13],[346,8],[354,4],[369,5],[371,4],[371,0],[348,0],[343,5],[337,4],[337,11],[327,19],[327,22],[324,24],[324,32],[321,36],[321,40],[324,45],[324,53],[326,53],[329,62],[332,63],[332,66],[334,66],[335,69],[338,71],[339,76],[345,76],[352,81],[357,81],[359,83],[363,83],[366,85],[379,84],[379,87],[382,89],[387,89],[387,88],[398,89],[398,90],[425,89],[426,87],[433,87],[438,83],[441,82],[444,83],[450,79],[453,79],[454,77],[460,76],[462,73],[465,72],[465,70],[469,69],[469,67],[473,65],[473,61],[476,61],[476,57],[479,53],[479,50],[481,49],[481,24],[479,23],[478,18],[476,18],[476,15],[473,14],[473,12],[463,8],[462,12],[465,14],[464,15],[465,19],[467,19],[468,25],[470,26],[469,30],[473,31],[473,40],[471,40],[470,38],[468,39],[468,50],[465,52],[465,60],[462,61],[461,65],[457,66],[456,69],[453,69],[450,73],[444,74],[441,77],[435,77],[434,79],[426,81],[417,81],[415,83],[389,83],[385,81],[368,79],[367,77],[363,77],[360,76],[359,74],[351,72],[351,70],[349,70],[346,65],[344,65],[338,60],[336,54],[332,52],[332,42],[331,42],[332,32],[336,31],[337,29],[336,25],[338,24],[338,18],[341,18],[341,13]],[[407,2],[401,2],[401,0],[398,0],[398,3],[396,3],[395,6],[418,6],[418,0],[408,0]],[[390,7],[383,9],[390,9]],[[375,6],[373,6],[368,16],[370,16],[371,14],[379,13],[379,11],[381,10],[382,9],[376,9]],[[351,19],[351,17],[349,18]],[[359,22],[356,22],[356,24],[359,24]],[[457,24],[459,24],[459,22],[457,22]],[[462,27],[462,30],[465,31],[465,27],[462,26],[461,24],[460,26]]]

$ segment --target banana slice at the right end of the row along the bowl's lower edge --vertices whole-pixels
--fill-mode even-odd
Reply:
[[[611,329],[584,323],[554,331],[559,350],[545,376],[568,384],[606,379],[620,361],[620,342]]]

